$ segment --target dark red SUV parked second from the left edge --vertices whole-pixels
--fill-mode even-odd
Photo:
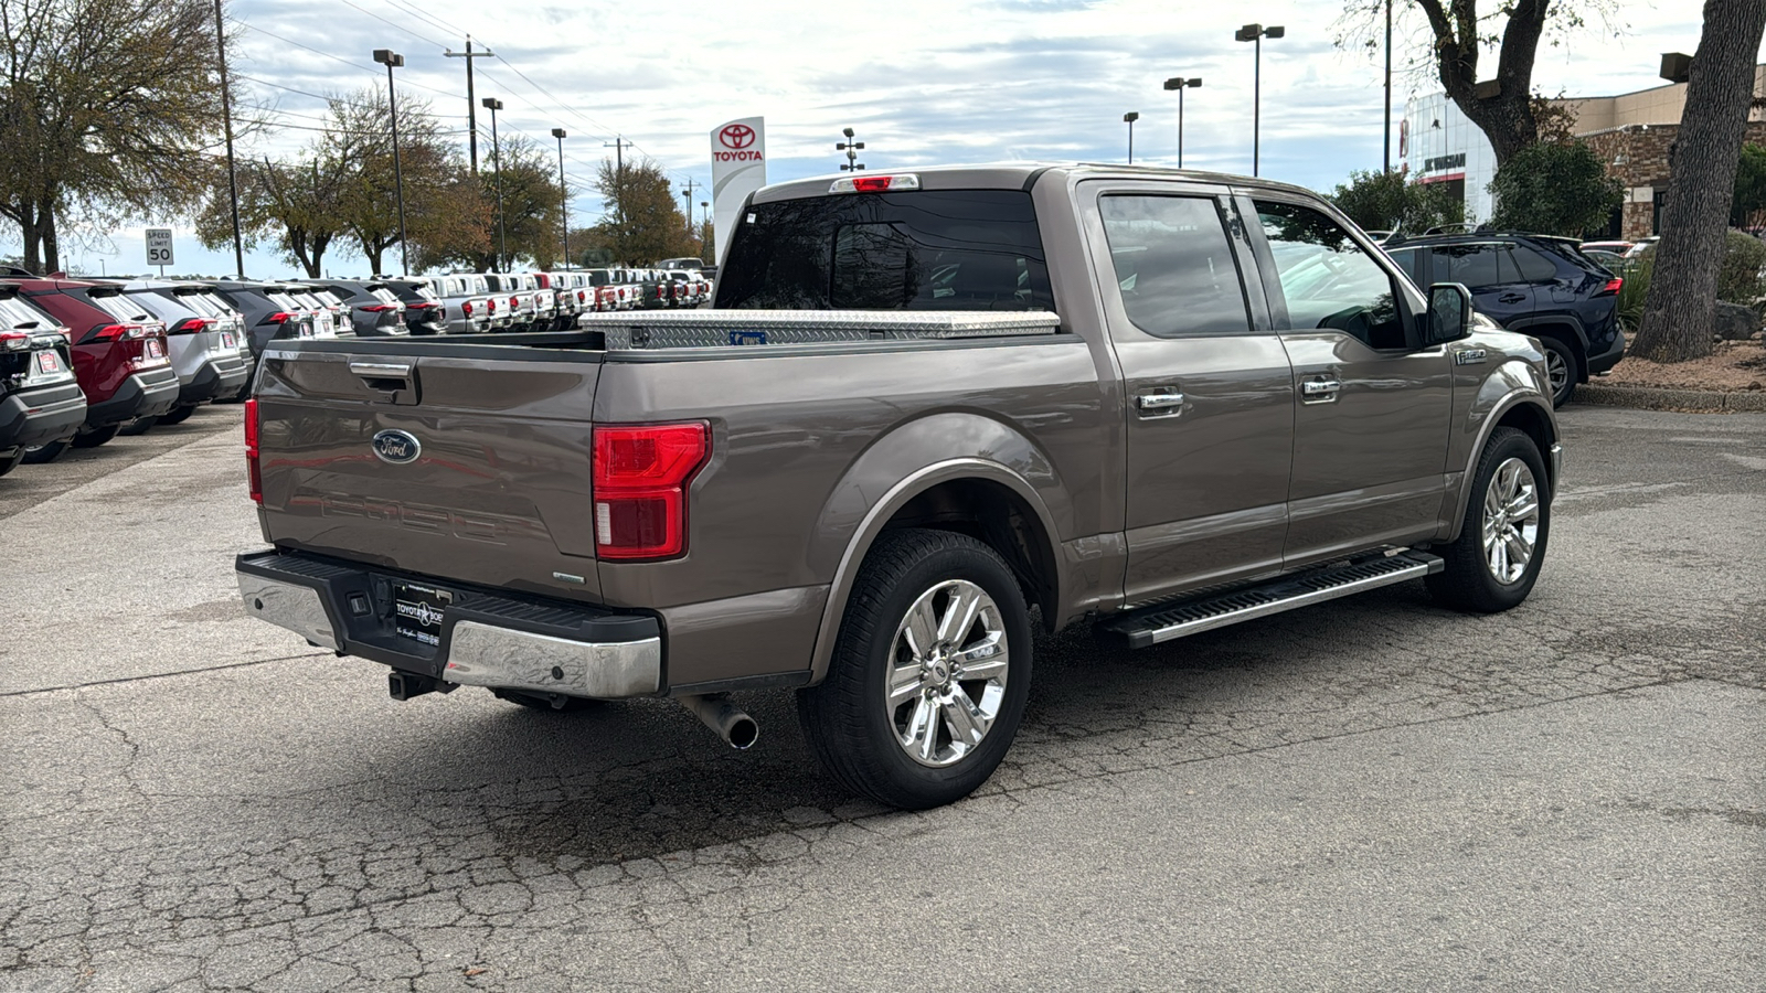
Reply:
[[[5,279],[32,306],[67,325],[74,375],[87,394],[87,421],[69,442],[32,449],[42,463],[76,449],[102,445],[136,417],[159,417],[178,403],[178,373],[166,348],[166,325],[145,315],[115,283],[83,279]]]

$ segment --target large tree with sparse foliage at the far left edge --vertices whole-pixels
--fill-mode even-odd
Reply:
[[[200,203],[223,131],[208,0],[0,0],[0,216],[26,269],[58,226]]]

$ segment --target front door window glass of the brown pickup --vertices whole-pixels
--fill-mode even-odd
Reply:
[[[1404,320],[1392,276],[1335,221],[1293,203],[1257,201],[1257,219],[1270,239],[1287,327],[1330,329],[1369,348],[1404,348]],[[1439,272],[1439,270],[1438,270]]]

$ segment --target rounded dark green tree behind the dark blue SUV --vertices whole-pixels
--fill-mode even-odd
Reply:
[[[1568,237],[1604,226],[1625,194],[1582,141],[1515,152],[1496,168],[1491,193],[1496,194],[1491,224]]]

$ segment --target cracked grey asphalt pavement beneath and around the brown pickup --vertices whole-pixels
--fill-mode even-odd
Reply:
[[[238,408],[0,481],[0,989],[1766,989],[1766,417],[1568,408],[1533,597],[1038,643],[904,815],[251,622]]]

